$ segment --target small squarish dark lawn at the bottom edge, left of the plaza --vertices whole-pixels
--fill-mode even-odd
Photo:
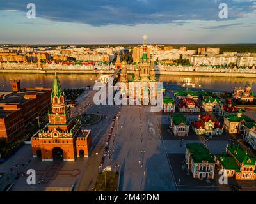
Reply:
[[[106,186],[105,186],[105,172],[99,173],[96,185],[95,185],[95,191],[117,191],[118,187],[118,175],[119,173],[116,172],[106,172]]]

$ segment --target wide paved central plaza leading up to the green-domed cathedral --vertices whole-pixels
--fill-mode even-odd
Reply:
[[[120,165],[121,191],[176,191],[150,106],[122,106],[112,138],[104,166]]]

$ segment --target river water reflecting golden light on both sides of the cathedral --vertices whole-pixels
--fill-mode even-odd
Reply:
[[[106,82],[109,75],[100,74],[58,74],[62,88],[93,86],[95,82]],[[21,87],[52,87],[54,74],[1,73],[0,91],[12,91],[10,80],[20,79]],[[256,78],[246,77],[201,77],[179,75],[157,75],[157,81],[163,82],[167,89],[204,89],[205,91],[232,92],[234,87],[244,87],[246,82],[252,84],[256,91]]]

